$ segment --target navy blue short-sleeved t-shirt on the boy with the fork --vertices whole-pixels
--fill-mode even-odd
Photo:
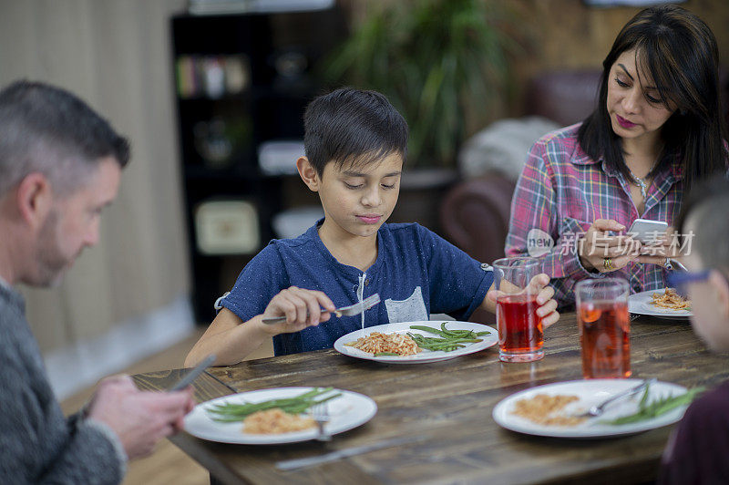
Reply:
[[[416,223],[383,224],[377,232],[377,259],[362,272],[329,253],[319,237],[321,222],[295,239],[270,242],[246,264],[221,306],[245,322],[261,315],[282,289],[298,286],[322,291],[337,307],[380,294],[381,303],[364,312],[364,326],[428,320],[431,313],[467,320],[493,283],[488,264]],[[362,315],[332,315],[318,326],[276,335],[273,349],[280,356],[330,348],[362,325]]]

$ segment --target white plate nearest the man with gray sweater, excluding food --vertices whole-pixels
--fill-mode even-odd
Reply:
[[[317,437],[317,428],[303,429],[292,433],[281,433],[275,435],[260,435],[243,432],[242,421],[234,423],[219,423],[213,421],[206,412],[207,408],[215,404],[233,403],[243,404],[245,402],[262,402],[282,397],[295,397],[312,390],[313,387],[277,387],[273,389],[261,389],[257,391],[241,392],[231,396],[223,396],[197,405],[190,414],[185,417],[185,431],[193,436],[209,441],[221,443],[238,443],[243,445],[273,445],[279,443],[295,443],[306,441]],[[342,396],[335,397],[329,403],[329,416],[331,420],[324,425],[330,435],[342,433],[356,428],[375,416],[377,405],[370,397],[352,391],[334,389],[333,392],[340,392]]]

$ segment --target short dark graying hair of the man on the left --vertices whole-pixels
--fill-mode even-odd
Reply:
[[[0,196],[34,171],[67,194],[109,156],[126,166],[128,140],[74,94],[26,80],[0,91]]]

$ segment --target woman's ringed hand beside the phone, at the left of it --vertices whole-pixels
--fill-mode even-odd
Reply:
[[[611,219],[597,219],[578,240],[580,263],[588,271],[611,273],[640,257],[641,242],[627,235],[612,236],[608,232],[623,232],[625,226]]]

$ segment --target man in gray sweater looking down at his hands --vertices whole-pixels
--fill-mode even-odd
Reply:
[[[98,242],[128,160],[128,141],[73,94],[0,91],[0,483],[118,483],[194,405],[190,388],[142,392],[119,376],[64,417],[13,287],[57,284]]]

